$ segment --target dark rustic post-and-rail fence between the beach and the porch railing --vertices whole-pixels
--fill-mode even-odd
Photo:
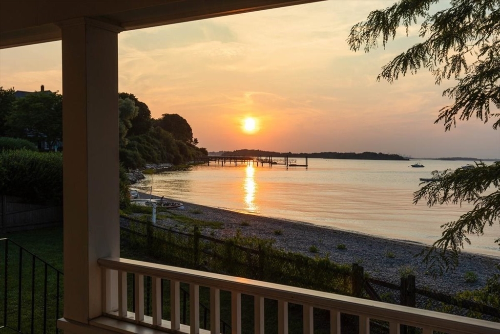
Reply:
[[[143,228],[141,231],[139,230],[132,231],[129,229],[129,226],[125,227],[123,226],[123,224],[121,224],[120,229],[122,231],[127,231],[128,233],[132,232],[137,235],[140,235],[141,237],[148,238],[146,242],[148,246],[150,246],[153,243],[153,239],[155,237],[159,237],[161,239],[160,241],[162,244],[168,244],[169,242],[173,242],[174,249],[179,251],[180,258],[179,258],[179,263],[172,263],[172,265],[179,265],[179,264],[185,265],[186,261],[188,261],[193,268],[200,268],[199,264],[205,262],[205,260],[201,260],[202,254],[206,253],[206,255],[214,257],[216,256],[215,254],[216,252],[214,251],[215,248],[218,246],[222,246],[227,248],[227,250],[230,250],[229,253],[231,254],[231,258],[223,259],[223,261],[221,261],[221,263],[223,264],[221,268],[227,271],[231,267],[239,265],[242,268],[246,268],[253,274],[253,276],[250,274],[247,278],[268,280],[268,281],[272,281],[270,279],[275,280],[278,276],[283,276],[283,275],[281,275],[277,271],[269,272],[268,270],[264,270],[263,268],[261,268],[263,264],[270,264],[266,265],[266,267],[267,268],[271,267],[275,269],[286,264],[285,265],[286,267],[289,266],[294,267],[295,269],[291,271],[292,272],[297,271],[297,274],[293,275],[292,272],[287,272],[283,278],[287,278],[288,280],[284,283],[288,285],[294,285],[298,283],[297,286],[302,286],[306,283],[306,281],[310,280],[310,277],[304,275],[303,272],[299,270],[299,268],[302,268],[305,271],[314,271],[312,270],[310,263],[305,263],[305,262],[294,263],[297,260],[302,260],[302,258],[301,257],[295,258],[291,256],[291,254],[288,254],[288,256],[283,256],[278,254],[272,254],[269,252],[262,252],[261,249],[252,249],[242,245],[236,245],[234,244],[234,242],[230,240],[217,239],[214,237],[202,235],[196,228],[194,229],[193,233],[185,233],[172,229],[165,229],[160,226],[152,225],[150,222],[144,222],[126,216],[122,216],[122,218],[125,218],[126,221],[128,222],[133,221],[139,223],[140,225],[147,226],[147,228]],[[156,234],[157,231],[167,231],[167,235],[169,235],[170,238],[162,238],[161,234]],[[172,237],[173,235],[175,235],[175,237]],[[185,239],[183,245],[179,245],[178,243],[179,239]],[[204,247],[206,248],[204,249],[201,246],[202,243],[206,243],[206,245],[210,246]],[[235,252],[236,249],[238,250],[238,254],[236,254]],[[172,259],[172,255],[173,255],[172,253],[170,252],[168,253],[168,258],[170,258],[170,260]],[[252,260],[252,257],[256,257],[256,259]],[[215,262],[208,261],[208,263],[214,264]],[[317,265],[318,263],[315,264]],[[323,265],[324,264],[325,263],[323,263]],[[205,270],[208,269],[208,271],[217,272],[217,270],[214,270],[214,267],[212,267],[211,265],[209,265],[209,268],[204,268],[204,269]],[[319,270],[321,273],[317,271],[314,272],[313,275],[315,279],[314,289],[328,291],[328,289],[329,288],[331,289],[331,287],[329,287],[328,284],[320,284],[322,280],[321,279],[318,280],[319,276],[326,275],[328,276],[328,279],[332,280],[334,276],[342,277],[344,273],[340,272],[330,273],[328,268],[326,267],[322,269],[324,270]],[[238,275],[242,277],[245,276],[244,272],[239,272],[237,270],[231,272],[223,272],[223,273]],[[369,298],[376,301],[399,303],[400,305],[411,306],[411,307],[416,307],[416,306],[425,307],[424,305],[422,305],[421,300],[423,298],[426,298],[427,302],[430,301],[430,302],[442,303],[442,305],[454,306],[462,310],[478,312],[481,313],[483,316],[500,318],[500,310],[498,310],[495,307],[484,305],[475,302],[473,300],[457,298],[456,296],[447,295],[441,292],[418,288],[416,287],[415,276],[413,275],[408,275],[407,277],[401,277],[400,285],[397,285],[390,282],[385,282],[382,280],[366,277],[364,275],[363,267],[354,263],[350,270],[350,277],[348,277],[347,280],[349,280],[350,282],[348,283],[344,282],[344,285],[348,286],[348,288],[344,289],[343,293],[345,293],[345,290],[351,290],[350,293],[355,297]],[[275,282],[283,283],[282,281],[275,281]],[[379,293],[381,288],[385,288],[385,290],[391,291],[390,292],[391,294],[393,293],[394,295],[399,295],[399,300],[393,300],[393,301],[383,300],[383,298],[380,297]],[[335,291],[335,290],[329,290],[329,292],[342,293],[341,291]],[[417,302],[417,299],[420,300],[420,302]],[[402,333],[408,332],[407,328],[403,326],[401,328],[401,332]]]

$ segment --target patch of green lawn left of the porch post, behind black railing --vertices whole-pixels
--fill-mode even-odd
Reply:
[[[56,332],[55,320],[62,316],[63,308],[63,276],[57,275],[57,270],[62,269],[62,227],[10,233],[0,237],[9,238],[25,249],[21,251],[21,248],[12,242],[0,243],[0,300],[2,301],[0,324],[25,333],[41,333],[44,328],[47,333]],[[8,245],[7,250],[6,245]],[[33,257],[30,253],[37,257]],[[5,254],[8,254],[6,259]],[[48,264],[45,265],[43,261]],[[58,291],[57,280],[59,280]],[[58,312],[55,302],[57,296]],[[7,307],[4,323],[5,299]]]

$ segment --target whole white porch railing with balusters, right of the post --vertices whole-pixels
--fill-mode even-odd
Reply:
[[[149,327],[150,330],[207,333],[208,331],[199,328],[199,286],[205,286],[210,288],[210,333],[220,333],[220,290],[231,292],[231,331],[233,333],[241,332],[241,294],[252,295],[255,298],[255,333],[264,331],[264,298],[277,300],[277,321],[280,334],[288,332],[289,302],[303,306],[304,333],[313,332],[313,308],[330,311],[330,332],[332,333],[340,333],[340,313],[358,315],[360,333],[369,332],[370,319],[387,321],[391,334],[399,333],[400,324],[422,328],[423,334],[431,334],[433,331],[485,334],[500,332],[500,323],[496,322],[241,277],[125,258],[101,258],[98,263],[104,270],[103,314],[114,318],[114,321],[119,320],[115,323],[135,323]],[[127,273],[135,275],[135,312],[129,312],[127,309]],[[152,316],[144,315],[144,276],[150,276],[152,281]],[[161,279],[170,281],[170,321],[161,318]],[[189,284],[189,326],[180,323],[180,282]],[[107,329],[110,329],[109,324]]]

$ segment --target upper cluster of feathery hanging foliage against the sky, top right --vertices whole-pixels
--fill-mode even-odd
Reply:
[[[353,51],[364,45],[369,52],[379,42],[385,48],[400,26],[408,36],[409,27],[421,22],[422,42],[383,66],[377,80],[392,83],[399,75],[421,69],[430,71],[437,85],[454,79],[456,86],[443,91],[454,103],[439,110],[435,123],[443,122],[448,131],[457,117],[475,116],[484,123],[493,118],[496,130],[500,126],[500,0],[451,0],[449,8],[430,14],[430,6],[438,2],[401,0],[373,11],[351,28],[347,43]]]

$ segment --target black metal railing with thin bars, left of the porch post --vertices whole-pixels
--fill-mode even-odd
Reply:
[[[0,329],[58,333],[62,272],[16,242],[0,239]]]

